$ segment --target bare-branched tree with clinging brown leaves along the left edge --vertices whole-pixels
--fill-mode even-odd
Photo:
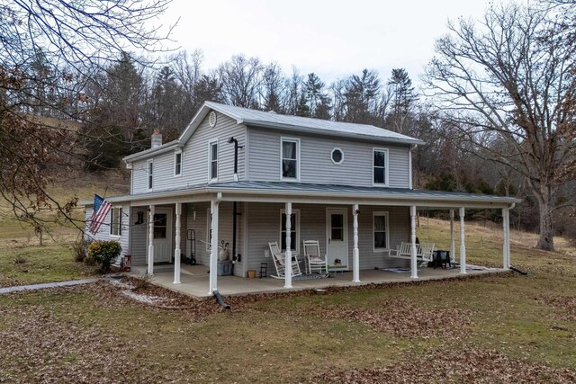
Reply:
[[[89,80],[128,49],[162,49],[148,23],[170,0],[0,1],[0,193],[14,215],[68,215],[46,192],[76,156]],[[166,31],[168,33],[169,31]],[[94,84],[94,82],[92,82]],[[47,123],[46,117],[67,123]]]

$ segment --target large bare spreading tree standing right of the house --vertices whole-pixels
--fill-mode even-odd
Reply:
[[[526,178],[539,205],[537,247],[554,250],[557,192],[576,178],[574,44],[554,39],[550,13],[529,6],[495,7],[449,30],[425,77],[437,116],[475,153]]]

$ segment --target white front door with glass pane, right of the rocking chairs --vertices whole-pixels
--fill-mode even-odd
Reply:
[[[326,244],[329,267],[348,268],[347,210],[326,210]]]

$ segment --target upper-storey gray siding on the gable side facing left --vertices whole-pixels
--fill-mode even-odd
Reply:
[[[228,116],[217,113],[214,128],[204,119],[194,131],[192,137],[182,148],[182,174],[174,175],[175,151],[151,156],[148,159],[132,164],[132,194],[149,192],[148,166],[152,159],[154,166],[152,192],[208,183],[208,144],[218,139],[218,182],[225,183],[234,180],[234,144],[229,144],[229,138],[238,140],[238,178],[245,180],[246,165],[246,127],[238,125]]]

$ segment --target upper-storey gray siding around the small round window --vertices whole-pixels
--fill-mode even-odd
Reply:
[[[280,180],[280,140],[282,137],[301,139],[300,181],[302,183],[340,183],[356,186],[373,185],[373,148],[388,148],[389,185],[410,187],[408,146],[374,144],[341,138],[290,135],[273,130],[248,128],[250,181]],[[330,154],[338,147],[344,161],[335,165]]]

